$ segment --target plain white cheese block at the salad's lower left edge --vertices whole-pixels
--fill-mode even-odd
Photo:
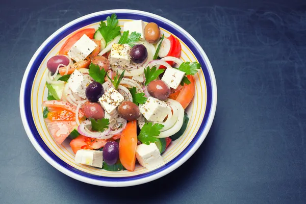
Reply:
[[[77,154],[75,154],[74,161],[80,164],[102,168],[103,151],[80,149],[77,151]]]

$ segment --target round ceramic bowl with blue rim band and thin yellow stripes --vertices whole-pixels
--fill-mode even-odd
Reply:
[[[149,171],[140,165],[135,171],[111,172],[74,162],[69,139],[59,145],[50,136],[42,115],[42,101],[47,97],[45,72],[47,60],[59,52],[60,47],[74,32],[84,28],[98,28],[100,20],[116,13],[119,25],[142,19],[156,22],[162,33],[179,38],[183,61],[197,61],[202,68],[195,74],[195,96],[186,109],[190,118],[185,133],[170,144],[163,154],[165,165]],[[217,87],[213,68],[201,46],[179,25],[161,16],[136,10],[108,10],[92,13],[69,22],[52,34],[37,49],[25,70],[20,90],[20,113],[24,129],[39,154],[52,166],[82,182],[99,186],[122,187],[156,180],[189,159],[208,134],[217,103]]]

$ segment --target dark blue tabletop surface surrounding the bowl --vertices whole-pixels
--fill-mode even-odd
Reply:
[[[300,2],[300,3],[299,3]],[[306,3],[5,1],[0,8],[0,203],[306,203]],[[23,72],[62,25],[106,9],[166,17],[203,47],[218,105],[184,165],[136,187],[84,184],[36,152],[19,114]]]

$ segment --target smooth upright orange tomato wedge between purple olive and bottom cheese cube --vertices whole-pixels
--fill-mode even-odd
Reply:
[[[136,163],[137,124],[136,120],[126,124],[119,142],[121,164],[129,171],[134,171]]]

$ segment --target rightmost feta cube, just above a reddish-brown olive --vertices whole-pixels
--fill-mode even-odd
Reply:
[[[164,81],[169,87],[176,89],[181,84],[184,76],[184,71],[174,68],[167,68],[162,77],[162,81]]]

